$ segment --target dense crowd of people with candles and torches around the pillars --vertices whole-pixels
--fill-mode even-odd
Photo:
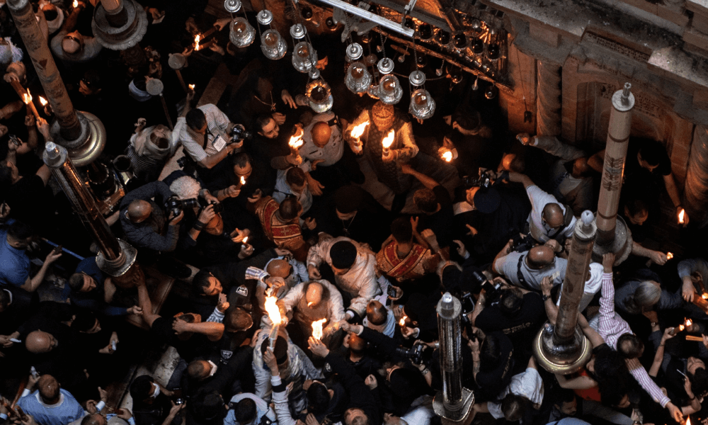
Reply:
[[[289,56],[235,47],[231,20],[206,1],[139,1],[149,28],[130,54],[91,36],[96,0],[71,3],[33,7],[74,106],[105,125],[96,164],[130,163],[105,220],[140,271],[126,286],[101,270],[43,164],[54,115],[35,118],[13,88],[42,93],[0,0],[0,424],[440,424],[445,293],[462,305],[461,379],[478,423],[707,423],[708,262],[653,249],[662,203],[689,222],[661,142],[629,142],[618,212],[631,253],[590,263],[578,327],[592,357],[554,375],[532,344],[556,323],[604,152],[511,135],[472,79],[430,79],[438,111],[425,122],[353,94],[336,30],[312,33],[333,96],[323,111]],[[215,42],[195,51],[210,26]],[[222,65],[236,82],[198,103],[201,89],[181,91],[163,66],[176,54],[202,88]],[[174,128],[152,79],[165,80]],[[163,304],[152,291],[168,276],[181,296]],[[169,380],[131,375],[169,346]],[[126,380],[130,409],[108,391]]]

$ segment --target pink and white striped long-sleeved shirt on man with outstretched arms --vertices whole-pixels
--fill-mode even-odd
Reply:
[[[600,321],[598,334],[603,337],[607,345],[617,349],[617,339],[623,334],[632,334],[629,324],[615,313],[615,286],[612,285],[612,273],[603,273],[603,296],[600,297]],[[666,407],[671,400],[661,392],[656,383],[649,378],[644,366],[629,370],[636,382],[639,382],[644,391],[651,395],[651,398]]]

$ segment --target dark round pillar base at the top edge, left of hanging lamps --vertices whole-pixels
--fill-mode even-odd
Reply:
[[[106,49],[125,50],[137,45],[147,32],[147,13],[133,0],[123,0],[126,22],[120,27],[110,23],[110,16],[101,4],[93,11],[91,29],[98,42]]]

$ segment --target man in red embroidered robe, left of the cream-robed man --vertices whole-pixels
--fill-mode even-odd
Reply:
[[[265,237],[275,246],[292,252],[297,261],[307,259],[309,244],[304,241],[299,224],[302,205],[296,198],[286,198],[278,205],[278,201],[272,197],[256,193],[249,198],[249,208],[253,208],[263,226]]]

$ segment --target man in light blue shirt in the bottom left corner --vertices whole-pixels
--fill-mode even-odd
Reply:
[[[37,390],[33,391],[35,386]],[[101,402],[96,404],[96,410],[100,411],[108,393],[100,387],[98,391],[101,392]],[[32,415],[39,425],[66,425],[88,414],[52,375],[42,375],[39,379],[30,376],[17,405]]]

